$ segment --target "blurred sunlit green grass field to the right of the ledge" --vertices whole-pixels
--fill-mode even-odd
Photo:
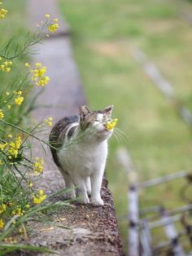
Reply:
[[[133,59],[139,47],[172,84],[177,98],[192,111],[191,27],[181,19],[188,2],[152,0],[66,0],[60,9],[72,26],[72,45],[90,108],[114,104],[114,117],[127,142],[111,139],[107,177],[120,218],[126,248],[127,174],[116,150],[128,149],[146,180],[191,168],[191,130],[177,115],[142,66]],[[181,183],[168,183],[141,193],[141,205],[168,208],[185,204],[178,195]],[[161,238],[155,232],[155,243]]]

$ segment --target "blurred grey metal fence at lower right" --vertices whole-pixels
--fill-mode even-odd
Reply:
[[[189,220],[189,216],[192,216],[192,197],[190,199],[190,193],[187,192],[192,185],[192,171],[181,170],[174,174],[139,183],[137,170],[125,148],[119,149],[118,158],[121,166],[127,171],[129,180],[128,256],[192,255],[192,223]],[[187,204],[167,210],[163,206],[164,202],[162,202],[162,205],[151,205],[141,209],[139,206],[140,191],[177,179],[186,179],[185,185],[180,188],[180,193],[183,201],[187,201]],[[180,224],[179,228],[178,223]],[[154,245],[152,235],[155,228],[162,228],[165,234],[165,241],[161,241],[157,245]],[[188,252],[182,245],[184,237],[190,245],[190,248],[187,249]]]

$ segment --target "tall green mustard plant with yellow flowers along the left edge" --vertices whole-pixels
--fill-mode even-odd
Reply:
[[[8,15],[9,11],[3,7],[3,2],[0,2],[0,22],[7,19]],[[40,62],[33,66],[25,62],[22,75],[10,76],[15,68],[15,60],[28,58],[33,54],[32,46],[42,42],[43,38],[48,36],[47,33],[55,33],[58,28],[58,20],[51,20],[50,15],[46,14],[46,20],[37,25],[35,32],[27,33],[22,44],[15,45],[14,39],[11,38],[0,50],[1,255],[20,248],[37,250],[34,246],[18,244],[22,241],[22,234],[26,233],[24,223],[39,211],[68,204],[46,203],[46,193],[37,186],[44,170],[44,160],[34,155],[32,143],[37,139],[42,147],[44,144],[49,145],[38,137],[38,133],[46,130],[47,126],[52,126],[52,117],[47,117],[33,128],[24,126],[24,118],[35,108],[37,96],[50,82],[46,66]],[[36,86],[40,90],[32,97],[31,91]],[[40,250],[50,251],[43,248]]]

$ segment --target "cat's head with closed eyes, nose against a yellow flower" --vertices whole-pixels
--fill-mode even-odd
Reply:
[[[111,121],[113,105],[103,110],[91,111],[84,105],[79,108],[80,127],[85,131],[85,136],[91,140],[109,139],[113,129],[107,129],[107,123]]]

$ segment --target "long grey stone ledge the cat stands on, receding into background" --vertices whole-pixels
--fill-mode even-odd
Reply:
[[[46,13],[50,13],[51,17],[57,17],[61,21],[56,3],[56,0],[28,0],[28,11],[32,22],[37,24]],[[61,29],[64,27],[65,24],[60,24]],[[49,38],[39,46],[39,52],[39,55],[33,55],[33,62],[46,65],[50,83],[37,100],[37,105],[41,108],[33,112],[33,119],[41,121],[47,117],[53,117],[55,123],[62,117],[78,113],[79,105],[86,102],[85,95],[73,60],[70,38]],[[46,108],[45,105],[50,107]],[[50,156],[50,150],[47,150],[45,156],[40,145],[35,143],[33,154],[43,157],[46,162],[40,184],[46,194],[64,188],[63,177]],[[123,255],[116,212],[105,178],[102,197],[104,206],[75,204],[73,208],[63,207],[55,210],[51,220],[69,229],[51,227],[51,224],[31,223],[32,232],[29,234],[28,243],[55,249],[62,256]],[[55,197],[55,201],[61,200],[63,200],[62,196]]]

